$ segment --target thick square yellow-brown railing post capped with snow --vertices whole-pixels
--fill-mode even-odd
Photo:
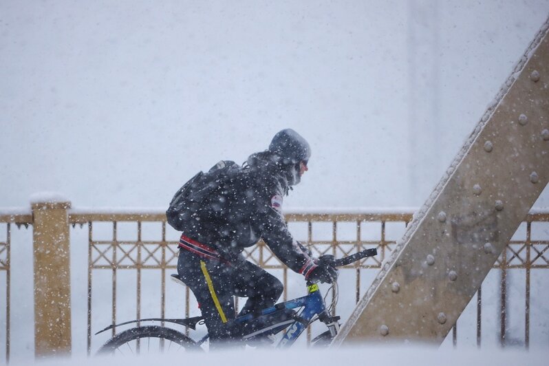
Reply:
[[[34,355],[71,352],[70,202],[34,202]]]

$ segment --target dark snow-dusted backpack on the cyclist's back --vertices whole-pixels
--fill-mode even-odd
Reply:
[[[173,195],[166,211],[168,224],[182,231],[190,218],[213,219],[222,215],[227,204],[227,187],[240,171],[235,162],[222,160],[206,173],[198,172]]]

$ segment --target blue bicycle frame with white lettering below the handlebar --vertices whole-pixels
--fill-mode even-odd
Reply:
[[[286,331],[286,334],[282,337],[277,347],[289,347],[296,341],[296,339],[301,335],[303,330],[310,324],[310,321],[315,315],[326,316],[326,305],[324,299],[319,290],[319,286],[312,284],[307,286],[308,295],[304,297],[299,297],[298,299],[293,299],[290,301],[285,301],[283,303],[277,303],[276,305],[261,310],[261,316],[272,314],[282,309],[296,309],[303,308],[303,311],[299,314],[299,320],[290,320],[288,321],[289,328]],[[246,314],[235,319],[237,323],[246,323],[254,319],[254,315]],[[329,319],[329,318],[327,318]],[[337,319],[335,319],[337,320]],[[291,325],[290,325],[291,323]],[[330,324],[327,324],[330,327]],[[280,325],[278,325],[280,326]],[[262,330],[264,331],[264,330]],[[259,331],[261,332],[261,331]]]

